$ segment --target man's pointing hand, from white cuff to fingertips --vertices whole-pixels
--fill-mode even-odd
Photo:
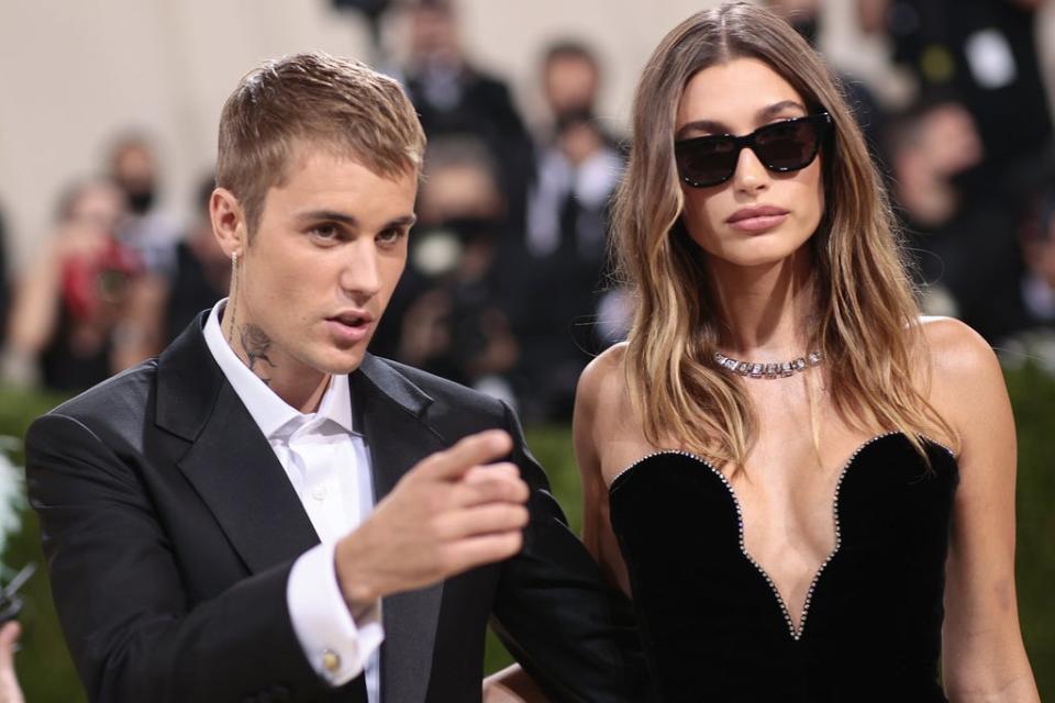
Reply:
[[[359,527],[336,544],[337,582],[353,610],[517,554],[529,490],[499,429],[420,461]]]

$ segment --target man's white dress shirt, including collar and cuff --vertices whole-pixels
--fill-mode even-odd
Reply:
[[[332,685],[366,671],[370,703],[380,703],[380,602],[354,618],[337,585],[334,543],[374,510],[370,458],[352,420],[347,376],[333,376],[314,413],[275,394],[235,355],[220,327],[226,300],[206,322],[209,350],[275,450],[322,544],[293,563],[286,585],[293,632],[312,668]]]

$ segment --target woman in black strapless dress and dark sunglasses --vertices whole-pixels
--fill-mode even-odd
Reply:
[[[828,69],[724,4],[664,38],[633,125],[613,224],[636,311],[575,435],[584,539],[660,698],[1037,700],[1000,369],[920,320]]]

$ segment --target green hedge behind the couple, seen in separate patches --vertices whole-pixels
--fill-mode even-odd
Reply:
[[[1007,375],[1019,432],[1018,473],[1018,585],[1022,634],[1041,698],[1055,696],[1055,378],[1026,367]],[[33,393],[0,391],[0,435],[21,437],[33,417],[60,399]],[[571,457],[567,427],[534,427],[528,442],[546,467],[553,489],[578,531],[581,503],[578,473]],[[21,454],[13,459],[21,464]],[[25,625],[18,655],[19,677],[30,703],[76,703],[85,695],[70,662],[52,607],[51,590],[43,574],[40,534],[32,511],[24,512],[22,532],[11,537],[3,563],[12,568],[27,561],[42,567],[24,589]],[[486,669],[495,671],[510,661],[491,637]]]

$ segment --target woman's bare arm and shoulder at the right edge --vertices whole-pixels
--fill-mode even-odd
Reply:
[[[954,320],[924,326],[931,401],[960,438],[942,666],[951,701],[1040,701],[1014,588],[1015,438],[996,355]]]

